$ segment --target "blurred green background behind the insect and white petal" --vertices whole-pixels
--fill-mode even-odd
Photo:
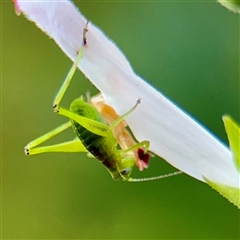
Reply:
[[[135,71],[227,143],[221,116],[239,113],[239,15],[215,2],[76,2]],[[3,239],[239,239],[239,211],[187,175],[115,182],[85,154],[26,157],[24,146],[65,122],[52,101],[71,62],[1,2]],[[64,105],[97,90],[80,72]],[[71,139],[66,132],[56,142]],[[159,158],[144,173],[173,171]]]

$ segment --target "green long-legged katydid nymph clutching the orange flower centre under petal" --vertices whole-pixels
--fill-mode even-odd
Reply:
[[[114,180],[140,182],[156,180],[173,176],[180,172],[150,178],[131,178],[134,165],[140,170],[147,167],[150,155],[147,153],[149,141],[136,143],[125,129],[124,119],[136,110],[140,99],[122,116],[118,116],[113,108],[105,104],[102,96],[96,96],[86,102],[81,96],[75,99],[70,109],[60,106],[60,102],[71,82],[76,68],[83,56],[87,44],[87,25],[83,30],[83,44],[77,59],[71,67],[63,85],[58,91],[53,108],[54,111],[70,120],[43,136],[33,140],[25,147],[27,155],[44,152],[87,152],[89,156],[98,159],[109,171]],[[76,136],[73,140],[50,146],[37,147],[64,130],[72,127]],[[120,146],[117,148],[117,146]]]

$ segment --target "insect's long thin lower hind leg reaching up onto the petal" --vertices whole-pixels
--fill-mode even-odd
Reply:
[[[78,55],[77,55],[77,58],[75,60],[75,62],[73,63],[70,71],[68,72],[68,75],[67,77],[65,78],[61,88],[59,89],[54,101],[53,101],[53,108],[54,108],[54,111],[55,112],[58,112],[58,109],[59,109],[59,104],[65,94],[65,92],[67,91],[67,88],[72,80],[72,77],[78,67],[78,64],[83,56],[83,53],[84,53],[84,50],[85,50],[85,46],[87,44],[87,39],[86,39],[86,33],[87,33],[87,25],[88,25],[88,22],[86,23],[86,26],[85,28],[83,29],[83,42],[82,42],[82,46],[78,52]]]

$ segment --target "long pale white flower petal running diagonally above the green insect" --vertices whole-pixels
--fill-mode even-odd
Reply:
[[[65,1],[17,1],[18,7],[72,59],[82,44],[86,18]],[[231,153],[200,124],[138,77],[120,50],[92,23],[81,71],[119,114],[142,103],[127,117],[136,138],[150,141],[150,150],[183,172],[239,188]]]

